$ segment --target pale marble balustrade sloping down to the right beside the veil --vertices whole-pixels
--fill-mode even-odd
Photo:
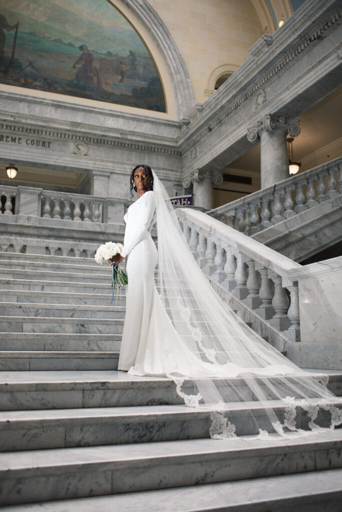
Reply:
[[[298,282],[290,273],[302,267],[202,212],[183,209],[177,216],[210,281],[265,325],[299,342]]]

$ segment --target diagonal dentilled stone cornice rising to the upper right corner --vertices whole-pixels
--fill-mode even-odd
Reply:
[[[334,30],[342,22],[342,9],[340,8],[337,12],[332,12],[336,6],[333,6],[328,10],[323,18],[320,18],[314,27],[310,27],[303,36],[295,41],[295,43],[288,49],[279,51],[280,57],[273,61],[271,67],[267,67],[261,75],[258,75],[257,80],[252,82],[248,88],[244,88],[244,93],[235,96],[232,101],[229,101],[224,107],[220,106],[217,109],[217,114],[209,120],[204,120],[205,126],[191,137],[189,136],[188,141],[183,142],[180,147],[182,154],[187,153],[191,148],[197,144],[200,140],[212,132],[217,126],[219,126],[225,119],[234,113],[236,109],[242,106],[246,101],[249,101],[252,97],[259,94],[260,90],[264,90],[268,82],[272,82],[284,73],[290,66],[293,65],[294,61],[300,55],[312,49],[312,47],[318,44],[324,37],[326,37],[332,30]],[[274,37],[274,36],[273,36]],[[269,46],[271,49],[273,45]],[[238,76],[239,70],[236,72]],[[215,95],[212,96],[208,101],[214,100]],[[209,105],[209,104],[208,104]],[[204,104],[204,112],[205,113]],[[215,103],[211,104],[211,109],[215,108]],[[200,115],[198,116],[200,117]],[[198,119],[198,118],[197,118]]]

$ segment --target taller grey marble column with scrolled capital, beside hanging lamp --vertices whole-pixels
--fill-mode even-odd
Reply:
[[[248,130],[250,142],[260,139],[261,188],[266,188],[289,178],[287,135],[300,133],[298,119],[268,114]]]

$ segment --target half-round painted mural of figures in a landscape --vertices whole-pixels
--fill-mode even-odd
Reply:
[[[108,0],[0,0],[0,82],[166,112],[151,55]]]

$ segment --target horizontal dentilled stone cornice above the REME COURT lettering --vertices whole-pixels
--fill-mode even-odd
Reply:
[[[126,137],[115,137],[110,135],[97,135],[86,133],[84,131],[56,128],[49,126],[39,126],[33,123],[23,123],[17,121],[0,120],[0,130],[6,133],[18,134],[18,135],[29,135],[45,137],[51,140],[65,140],[74,142],[72,152],[78,155],[88,154],[88,145],[105,145],[114,147],[125,147],[131,150],[148,151],[151,153],[163,153],[166,155],[180,156],[181,153],[177,148],[176,144],[174,147],[170,147],[168,144],[163,144],[160,141],[143,142],[132,140],[129,136]],[[136,137],[136,134],[135,134]]]

